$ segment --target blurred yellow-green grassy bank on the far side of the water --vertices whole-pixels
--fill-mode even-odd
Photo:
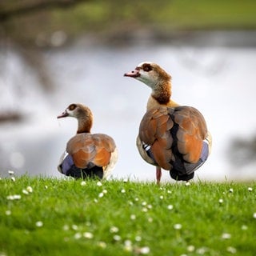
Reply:
[[[53,23],[70,33],[123,32],[138,27],[164,30],[254,30],[254,0],[164,0],[85,2],[69,11],[55,10]],[[63,27],[64,29],[64,27]]]

